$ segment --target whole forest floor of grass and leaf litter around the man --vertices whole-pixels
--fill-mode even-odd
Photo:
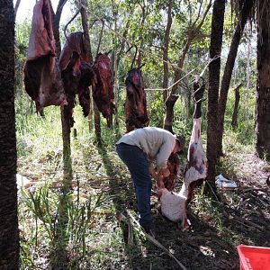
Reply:
[[[58,108],[45,118],[21,115],[17,120],[21,268],[49,269],[57,245],[65,243],[68,269],[180,269],[175,260],[133,226],[119,219],[128,212],[136,218],[136,200],[130,175],[114,151],[115,130],[103,129],[103,145],[76,107],[76,138],[72,136],[73,184],[67,194],[64,241],[56,237],[62,180],[61,128]],[[203,130],[202,130],[203,133]],[[198,188],[188,210],[191,226],[182,231],[158,212],[157,189],[151,197],[157,241],[187,269],[238,269],[239,244],[269,247],[270,196],[266,178],[270,165],[226,131],[224,157],[218,173],[238,188],[219,190],[213,203]],[[186,154],[175,191],[182,184]],[[25,177],[25,178],[24,178]],[[59,262],[59,269],[61,269]]]

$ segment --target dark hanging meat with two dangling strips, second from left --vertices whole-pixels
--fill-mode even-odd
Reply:
[[[89,85],[94,81],[94,70],[87,57],[83,32],[78,31],[68,35],[61,51],[60,69],[68,103],[65,117],[70,120],[70,127],[72,127],[74,123],[72,111],[76,94],[86,117],[90,110]]]

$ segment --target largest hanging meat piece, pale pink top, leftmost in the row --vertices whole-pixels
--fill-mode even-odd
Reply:
[[[25,90],[35,101],[37,111],[67,103],[56,64],[49,3],[49,0],[40,0],[34,6],[27,61],[23,67]]]

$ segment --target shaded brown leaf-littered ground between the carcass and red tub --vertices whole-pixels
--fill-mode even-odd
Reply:
[[[266,181],[270,165],[250,154],[241,156],[238,166],[233,179],[238,188],[219,190],[220,203],[212,206],[200,196],[200,189],[196,191],[195,202],[188,210],[191,226],[186,231],[161,216],[155,193],[152,196],[157,241],[187,269],[239,269],[238,245],[270,247],[270,195]],[[148,240],[143,249],[138,250],[138,257],[132,257],[132,269],[181,269]]]

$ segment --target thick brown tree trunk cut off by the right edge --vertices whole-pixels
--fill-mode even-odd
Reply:
[[[270,159],[270,2],[257,1],[256,150]]]

